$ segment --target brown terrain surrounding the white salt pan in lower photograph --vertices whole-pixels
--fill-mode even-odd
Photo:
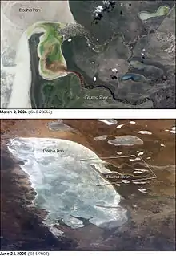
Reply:
[[[175,250],[175,135],[170,128],[174,120],[118,120],[107,125],[98,120],[64,120],[70,131],[52,131],[48,123],[54,120],[1,120],[1,249],[2,250]],[[124,124],[117,129],[117,125]],[[166,131],[165,131],[166,130]],[[150,131],[151,135],[138,131]],[[96,136],[138,136],[144,144],[114,146]],[[141,165],[150,165],[151,173],[145,184],[116,183],[122,207],[128,210],[129,221],[116,230],[102,230],[89,223],[78,229],[64,225],[64,236],[56,238],[42,220],[45,209],[31,205],[35,191],[19,161],[6,147],[10,138],[50,137],[72,140],[90,148],[100,158],[136,155],[144,152]],[[130,173],[134,162],[124,158],[108,158],[110,169]],[[125,166],[125,167],[123,167]],[[136,166],[138,168],[138,166]],[[111,182],[110,181],[110,182]],[[118,185],[117,185],[118,183]],[[138,191],[146,189],[147,193]]]

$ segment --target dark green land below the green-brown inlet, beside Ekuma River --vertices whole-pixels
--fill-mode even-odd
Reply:
[[[82,88],[80,80],[74,74],[42,83],[41,95],[38,102],[40,108],[92,108],[95,104],[100,108],[111,108],[113,104],[110,91],[101,91],[102,97],[107,99],[106,103],[101,100],[98,88]]]

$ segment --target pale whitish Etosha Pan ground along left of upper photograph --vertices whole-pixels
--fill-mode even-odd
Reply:
[[[2,1],[2,38],[6,40],[7,45],[10,49],[13,49],[18,54],[18,48],[22,48],[20,50],[22,52],[20,56],[20,62],[16,63],[15,68],[15,76],[13,79],[10,99],[8,100],[6,108],[31,108],[30,102],[30,87],[31,87],[31,70],[30,70],[30,53],[29,53],[29,43],[28,40],[24,42],[25,39],[25,31],[32,26],[34,23],[40,22],[41,20],[45,20],[45,22],[59,22],[59,23],[76,23],[74,20],[74,16],[70,11],[69,1],[50,1],[50,6],[48,6],[49,14],[46,15],[46,10],[43,6],[45,5],[45,1],[40,1],[37,3],[28,2],[28,7],[34,7],[34,5],[41,6],[40,12],[30,12],[24,14],[22,19],[20,19],[20,15],[22,12],[18,13],[17,8],[19,2],[11,1],[3,2]],[[4,5],[4,6],[3,6]],[[26,6],[26,2],[23,3]],[[6,9],[6,6],[8,8]],[[7,11],[7,12],[6,12]],[[8,16],[8,11],[10,16]],[[52,14],[53,13],[53,14]],[[30,16],[29,16],[30,15]],[[19,17],[19,18],[18,18]],[[16,23],[15,23],[16,22]],[[3,35],[4,34],[4,35]],[[27,43],[27,44],[26,44]],[[19,45],[18,45],[19,44]],[[2,52],[3,48],[6,49],[5,43],[2,41]],[[25,48],[27,50],[25,50]],[[7,51],[7,50],[5,50]],[[9,51],[9,50],[8,50]],[[27,54],[28,53],[28,54]],[[14,60],[14,59],[13,59]],[[26,61],[28,64],[26,64]],[[10,67],[7,67],[10,70]],[[26,71],[24,71],[24,68]],[[22,73],[23,70],[23,73]],[[29,83],[28,86],[25,83]],[[6,83],[8,80],[6,79]],[[23,92],[22,92],[23,91]],[[21,98],[20,98],[21,96]],[[6,97],[2,95],[2,98]],[[2,102],[6,102],[6,100],[2,99]],[[21,103],[19,106],[19,102]]]

